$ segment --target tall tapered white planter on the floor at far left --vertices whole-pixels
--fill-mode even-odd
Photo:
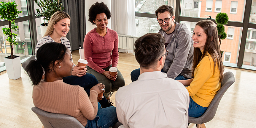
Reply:
[[[16,58],[14,59],[8,59],[8,57],[9,56],[4,58],[4,63],[7,70],[8,78],[16,80],[21,77],[20,56],[16,56]]]

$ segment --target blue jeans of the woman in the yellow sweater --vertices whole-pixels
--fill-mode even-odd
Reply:
[[[196,104],[191,96],[189,98],[188,116],[196,118],[202,116],[207,108]]]

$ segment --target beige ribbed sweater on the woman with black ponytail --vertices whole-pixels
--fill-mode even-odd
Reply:
[[[75,117],[83,126],[93,120],[98,111],[98,93],[90,91],[90,99],[84,88],[58,80],[41,81],[33,88],[33,102],[36,107],[51,113]]]

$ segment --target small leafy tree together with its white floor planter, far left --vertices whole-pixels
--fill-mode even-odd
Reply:
[[[7,74],[10,79],[18,79],[21,77],[20,69],[20,56],[13,55],[12,45],[18,45],[16,42],[17,34],[12,33],[12,30],[16,31],[18,26],[15,24],[15,20],[21,11],[18,11],[16,2],[4,2],[1,1],[0,4],[0,15],[1,19],[9,21],[9,27],[2,28],[5,36],[8,36],[7,41],[11,45],[11,55],[4,58],[4,63],[6,66]]]

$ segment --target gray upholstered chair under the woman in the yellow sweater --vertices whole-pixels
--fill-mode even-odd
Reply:
[[[221,82],[221,88],[212,99],[212,102],[210,103],[205,113],[198,118],[189,117],[188,123],[196,124],[197,128],[205,128],[204,123],[209,122],[215,116],[222,96],[234,82],[235,82],[235,77],[232,72],[224,73],[224,77]]]

